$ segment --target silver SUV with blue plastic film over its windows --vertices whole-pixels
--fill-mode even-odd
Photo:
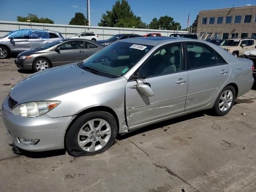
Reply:
[[[12,31],[0,38],[0,59],[7,58],[11,53],[39,48],[62,39],[60,32],[50,30],[22,29]]]

